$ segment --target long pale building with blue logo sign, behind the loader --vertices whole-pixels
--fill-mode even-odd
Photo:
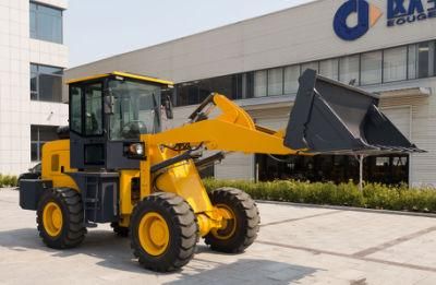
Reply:
[[[425,154],[367,157],[365,180],[436,185],[436,2],[319,0],[66,71],[113,70],[172,80],[182,123],[210,92],[243,106],[258,124],[284,128],[307,68],[380,95],[380,107]],[[229,179],[356,179],[348,156],[234,154],[210,173]]]

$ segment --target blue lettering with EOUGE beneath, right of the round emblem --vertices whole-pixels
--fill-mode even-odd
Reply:
[[[388,0],[387,26],[400,26],[436,17],[436,0]]]

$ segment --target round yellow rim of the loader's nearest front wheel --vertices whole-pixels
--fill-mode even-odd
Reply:
[[[138,237],[142,248],[150,256],[162,254],[170,244],[170,230],[165,218],[152,212],[141,218]]]

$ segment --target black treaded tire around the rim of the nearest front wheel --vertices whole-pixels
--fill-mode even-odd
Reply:
[[[166,222],[169,242],[159,256],[146,251],[140,241],[140,223],[147,213],[157,213]],[[140,264],[153,271],[170,272],[185,265],[195,252],[198,225],[190,204],[181,197],[157,192],[138,202],[133,210],[130,225],[131,248]]]

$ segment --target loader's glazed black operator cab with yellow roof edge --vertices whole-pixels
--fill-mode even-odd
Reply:
[[[71,167],[137,169],[126,150],[161,129],[161,106],[172,117],[172,82],[112,72],[69,84]]]

